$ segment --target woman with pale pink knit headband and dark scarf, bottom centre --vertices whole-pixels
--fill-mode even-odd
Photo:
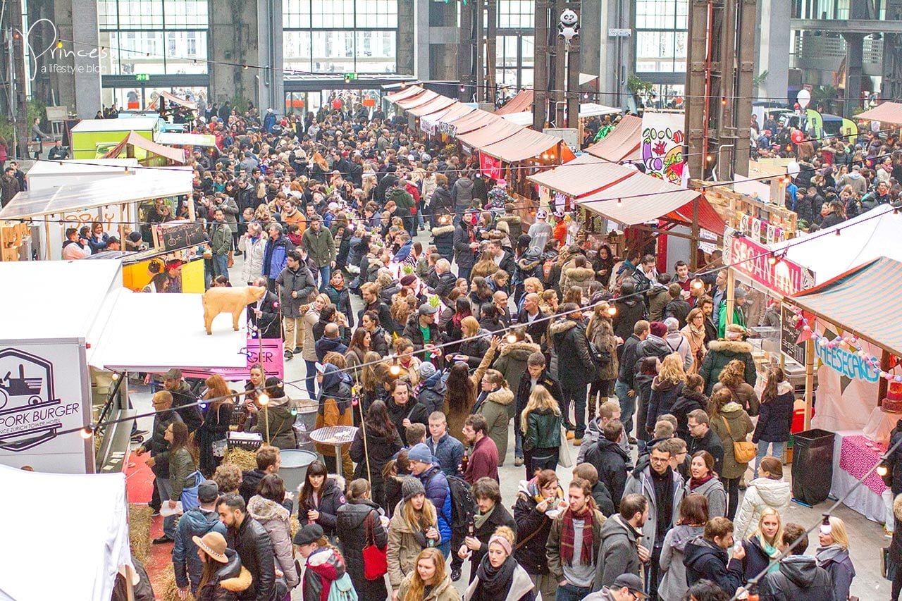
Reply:
[[[489,551],[466,589],[465,601],[535,601],[536,591],[529,574],[512,557],[515,542],[514,533],[507,526],[500,526],[492,534]]]

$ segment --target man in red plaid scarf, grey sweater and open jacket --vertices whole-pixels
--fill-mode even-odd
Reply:
[[[557,581],[557,601],[579,601],[592,592],[602,546],[604,516],[589,505],[592,486],[574,478],[569,494],[569,507],[551,522],[545,547],[548,575]]]

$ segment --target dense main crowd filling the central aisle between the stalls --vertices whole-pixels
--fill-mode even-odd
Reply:
[[[746,327],[772,308],[727,290],[719,253],[658,273],[563,214],[527,224],[506,182],[379,111],[208,117],[218,150],[191,166],[209,285],[266,287],[248,318],[303,360],[317,427],[360,428],[289,491],[287,383],[165,374],[138,453],[158,506],[186,509],[154,541],[181,594],[444,601],[467,562],[465,599],[849,598],[842,521],[816,555],[784,521],[793,387],[775,366],[756,392]],[[255,469],[222,462],[233,428],[262,435]],[[502,498],[511,448],[523,479]]]

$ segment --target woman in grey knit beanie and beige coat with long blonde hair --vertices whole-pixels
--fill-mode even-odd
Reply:
[[[401,502],[389,522],[389,580],[397,592],[401,581],[416,569],[419,552],[441,544],[436,507],[415,477],[401,482]]]

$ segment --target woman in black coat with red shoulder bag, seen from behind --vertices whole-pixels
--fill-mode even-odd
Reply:
[[[370,499],[370,483],[363,478],[347,487],[347,504],[338,509],[336,532],[342,544],[345,569],[361,599],[388,597],[385,578],[367,580],[364,577],[364,547],[375,545],[385,550],[389,535],[382,526],[381,508]]]

